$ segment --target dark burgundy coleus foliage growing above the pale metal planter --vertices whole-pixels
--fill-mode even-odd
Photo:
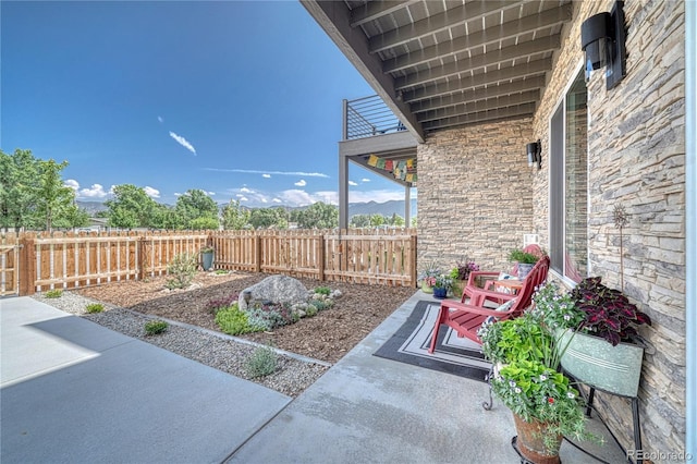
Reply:
[[[582,280],[571,291],[571,296],[576,308],[586,315],[582,328],[602,337],[613,346],[631,341],[637,334],[635,326],[651,325],[651,318],[646,313],[629,303],[619,290],[600,283],[600,277]]]

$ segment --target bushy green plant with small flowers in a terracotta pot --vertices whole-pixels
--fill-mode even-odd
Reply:
[[[585,428],[578,391],[559,371],[564,346],[557,329],[573,327],[583,315],[554,284],[538,290],[534,301],[540,307],[536,304],[518,318],[487,323],[479,338],[485,356],[498,366],[491,389],[513,413],[516,449],[529,462],[559,463],[562,437],[600,441]],[[542,308],[545,302],[552,306]]]

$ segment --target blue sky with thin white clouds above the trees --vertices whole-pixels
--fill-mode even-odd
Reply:
[[[0,147],[80,199],[337,203],[341,101],[372,95],[296,1],[0,2]],[[350,168],[350,202],[404,190]]]

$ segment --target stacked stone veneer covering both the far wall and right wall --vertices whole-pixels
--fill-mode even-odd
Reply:
[[[524,233],[549,244],[549,121],[584,60],[580,24],[613,2],[573,5],[533,121],[437,132],[419,146],[420,265],[449,266],[466,255],[501,269]],[[660,462],[659,453],[685,448],[685,7],[626,0],[624,11],[627,75],[612,90],[604,70],[588,83],[588,274],[620,288],[612,211],[624,206],[624,290],[653,319],[640,331],[648,344],[639,387],[643,448]],[[531,171],[525,144],[537,138],[543,164]],[[628,400],[602,393],[598,400],[622,445],[633,449]]]

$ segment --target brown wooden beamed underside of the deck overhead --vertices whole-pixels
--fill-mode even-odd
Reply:
[[[571,0],[301,0],[418,143],[533,115]]]

